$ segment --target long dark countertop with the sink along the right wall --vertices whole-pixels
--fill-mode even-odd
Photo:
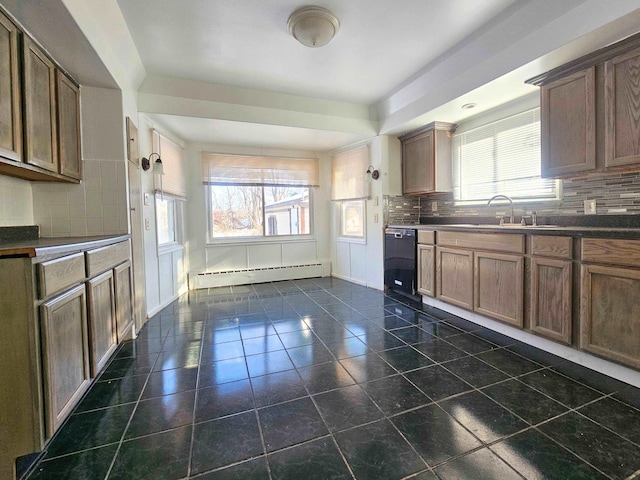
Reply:
[[[607,237],[640,239],[640,228],[582,227],[560,225],[474,225],[474,224],[413,224],[388,225],[388,228],[415,228],[416,230],[441,230],[454,232],[525,233],[535,235],[560,235],[565,237]]]

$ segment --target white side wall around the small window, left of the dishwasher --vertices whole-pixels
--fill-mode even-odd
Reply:
[[[384,289],[383,195],[401,194],[398,139],[386,135],[373,138],[369,144],[369,154],[371,165],[380,171],[380,178],[371,181],[371,198],[366,201],[367,221],[364,241],[339,238],[338,205],[331,205],[333,275],[382,290]]]

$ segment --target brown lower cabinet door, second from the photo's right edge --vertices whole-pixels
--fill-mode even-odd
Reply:
[[[531,330],[571,344],[571,262],[531,259]]]

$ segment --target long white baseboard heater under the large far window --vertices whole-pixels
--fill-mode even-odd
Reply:
[[[220,272],[196,274],[191,288],[228,287],[248,283],[278,282],[280,280],[298,280],[301,278],[326,277],[331,274],[330,263],[308,263],[282,267],[242,268]]]

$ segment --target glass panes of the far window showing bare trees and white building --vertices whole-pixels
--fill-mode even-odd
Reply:
[[[308,235],[309,189],[210,185],[211,238]]]

